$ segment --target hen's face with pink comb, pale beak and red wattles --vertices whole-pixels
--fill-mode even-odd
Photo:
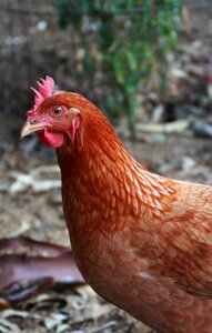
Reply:
[[[27,123],[21,131],[21,138],[37,132],[41,141],[48,145],[59,148],[65,135],[73,141],[80,125],[80,113],[87,99],[77,93],[53,92],[54,81],[47,77],[38,83],[34,92],[34,105],[27,112]]]

